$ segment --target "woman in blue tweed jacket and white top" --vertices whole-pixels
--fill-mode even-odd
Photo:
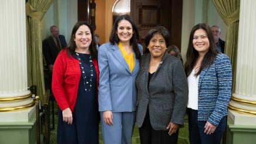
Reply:
[[[191,30],[185,71],[190,143],[220,143],[231,97],[231,64],[225,54],[217,52],[206,23]]]

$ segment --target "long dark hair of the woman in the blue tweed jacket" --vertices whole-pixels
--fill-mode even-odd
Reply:
[[[198,29],[203,29],[206,31],[207,37],[208,37],[208,40],[210,43],[210,49],[204,56],[201,66],[200,66],[199,70],[196,72],[196,76],[198,76],[204,68],[207,68],[208,66],[210,66],[213,63],[213,61],[215,60],[217,53],[218,53],[216,50],[214,40],[213,40],[213,35],[211,33],[210,26],[208,26],[206,23],[198,23],[197,25],[195,25],[191,29],[191,32],[190,32],[190,38],[189,38],[187,54],[186,54],[187,61],[185,63],[185,71],[186,71],[187,77],[190,75],[191,71],[193,70],[193,68],[196,64],[198,55],[199,55],[197,50],[194,49],[194,46],[193,46],[194,32]]]

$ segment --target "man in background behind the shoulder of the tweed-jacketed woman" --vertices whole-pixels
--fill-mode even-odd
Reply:
[[[216,49],[219,53],[224,53],[225,41],[220,39],[220,27],[217,25],[211,26],[211,32],[213,33],[214,43],[216,44]]]

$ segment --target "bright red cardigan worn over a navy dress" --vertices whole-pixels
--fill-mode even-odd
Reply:
[[[70,108],[73,112],[78,85],[81,77],[79,60],[67,55],[68,50],[62,50],[55,60],[52,73],[52,92],[61,110]],[[97,60],[92,61],[95,66],[97,81],[99,85],[99,67]]]

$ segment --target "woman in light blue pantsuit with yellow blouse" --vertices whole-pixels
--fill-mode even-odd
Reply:
[[[99,47],[99,111],[105,144],[132,143],[136,119],[135,78],[142,46],[139,32],[129,15],[114,22],[109,43]]]

